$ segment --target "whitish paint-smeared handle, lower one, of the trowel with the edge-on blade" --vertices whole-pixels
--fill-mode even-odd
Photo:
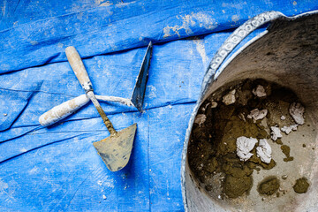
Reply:
[[[64,117],[71,115],[72,112],[79,110],[79,108],[87,104],[87,102],[89,102],[87,95],[79,95],[72,100],[57,105],[39,117],[40,125],[53,125]]]

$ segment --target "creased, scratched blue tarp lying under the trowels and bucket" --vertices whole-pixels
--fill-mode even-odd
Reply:
[[[0,211],[183,211],[183,141],[216,50],[262,11],[318,9],[313,0],[124,2],[0,3]],[[111,172],[96,154],[92,142],[109,133],[92,104],[39,125],[42,113],[83,94],[65,47],[85,58],[95,94],[129,98],[149,41],[144,113],[101,103],[117,130],[138,124],[125,169]]]

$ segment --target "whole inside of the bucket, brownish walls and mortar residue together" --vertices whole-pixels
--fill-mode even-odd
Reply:
[[[186,210],[318,210],[317,56],[313,12],[276,20],[218,71],[186,136]]]

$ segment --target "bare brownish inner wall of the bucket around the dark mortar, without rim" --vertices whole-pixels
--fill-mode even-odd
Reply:
[[[186,209],[189,211],[314,211],[318,209],[318,15],[311,14],[294,20],[277,20],[269,33],[243,49],[209,85],[203,101],[216,91],[229,89],[244,79],[265,79],[288,87],[306,108],[305,125],[298,133],[288,136],[294,161],[285,163],[274,145],[276,167],[254,171],[254,185],[250,193],[233,200],[221,200],[208,195],[194,177],[186,156],[185,191]],[[301,148],[306,143],[307,148]],[[263,198],[257,185],[267,176],[280,177],[284,196]],[[295,193],[292,186],[299,177],[309,182],[307,193]],[[212,191],[213,192],[213,191]]]

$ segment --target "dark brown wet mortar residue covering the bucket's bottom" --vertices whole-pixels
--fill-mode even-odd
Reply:
[[[260,86],[264,87],[266,96],[253,94]],[[229,94],[233,95],[231,100],[235,101],[224,101],[224,96],[228,97]],[[211,102],[216,107],[212,107]],[[220,88],[201,104],[197,116],[204,115],[205,120],[193,124],[187,154],[194,177],[206,188],[209,195],[217,199],[235,199],[248,195],[254,185],[254,170],[266,171],[276,166],[275,158],[270,159],[270,151],[267,151],[270,161],[263,158],[269,163],[261,161],[261,154],[257,155],[256,152],[256,148],[260,147],[259,142],[250,152],[245,153],[251,157],[241,161],[237,155],[237,140],[244,136],[258,141],[270,141],[272,126],[280,128],[295,125],[289,114],[292,102],[299,102],[299,99],[291,90],[263,79],[246,79],[235,86],[228,86],[227,89]],[[247,118],[255,109],[268,112],[260,119]],[[283,145],[279,138],[275,142],[269,142],[268,148]],[[292,161],[290,148],[287,145],[281,148],[286,155],[284,161]],[[261,147],[259,151],[260,149]],[[279,188],[279,180],[275,176],[256,183],[260,185],[258,192],[261,194],[271,195]]]

